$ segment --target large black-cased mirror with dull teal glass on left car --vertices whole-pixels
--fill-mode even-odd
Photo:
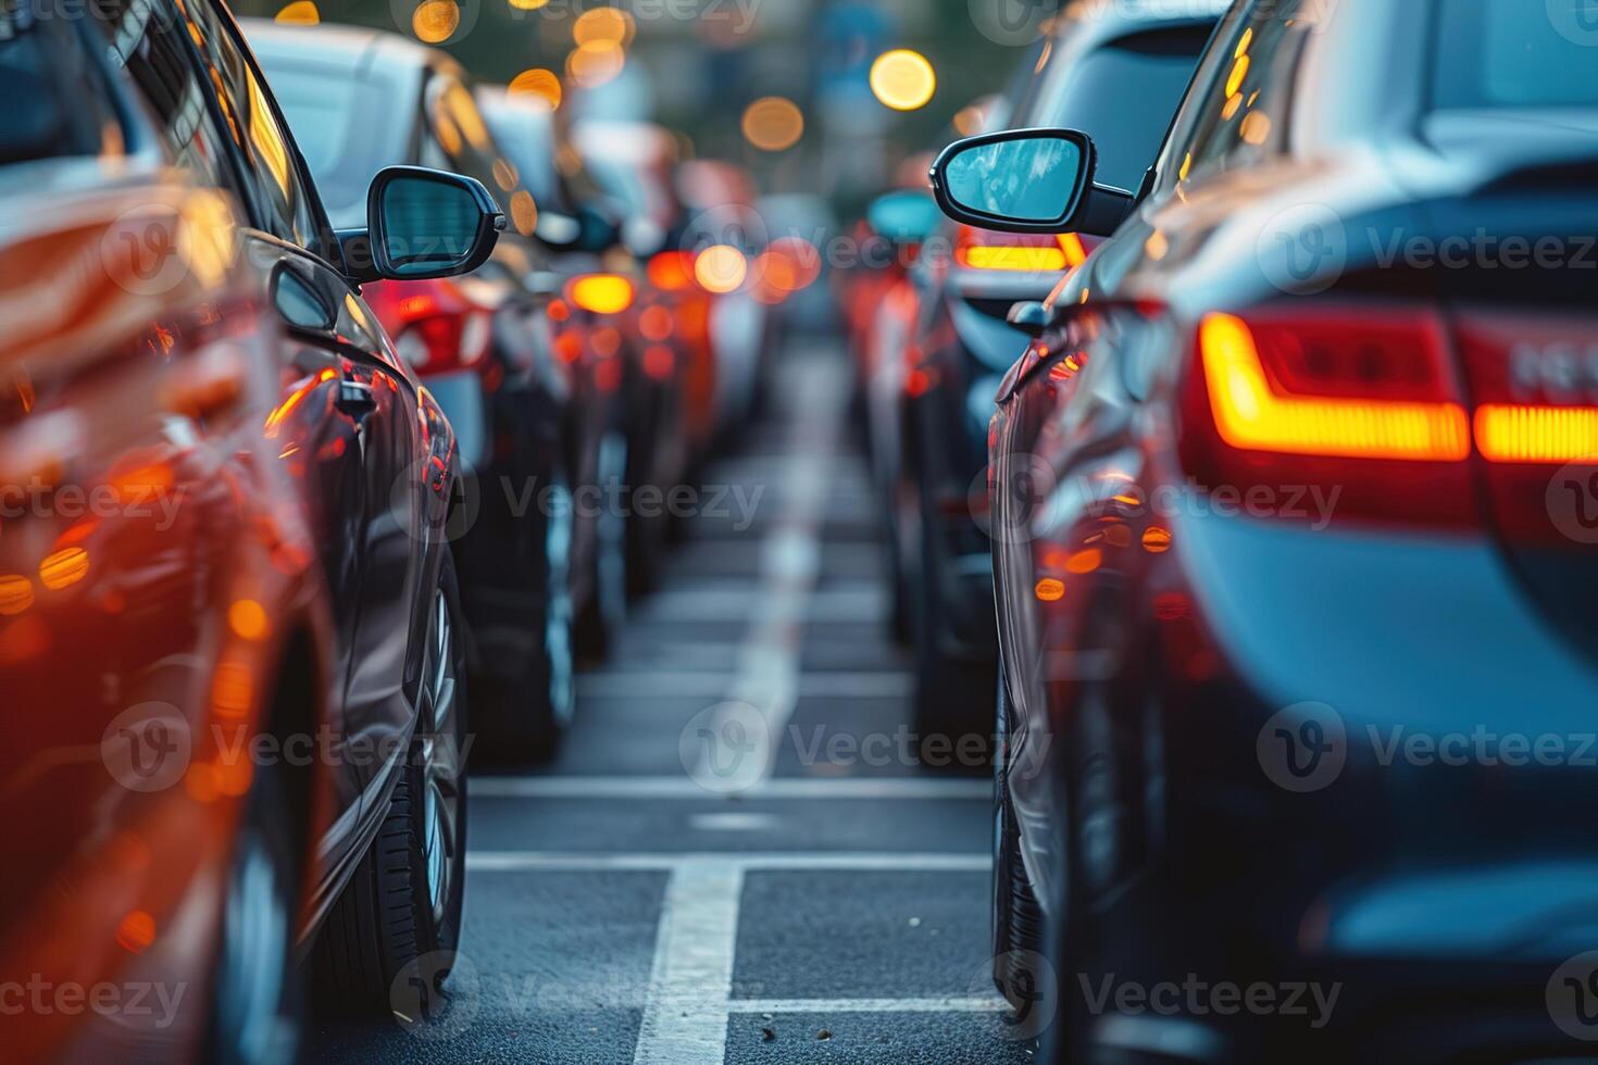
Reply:
[[[366,225],[376,276],[414,281],[481,267],[505,216],[473,177],[387,166],[366,193]]]

